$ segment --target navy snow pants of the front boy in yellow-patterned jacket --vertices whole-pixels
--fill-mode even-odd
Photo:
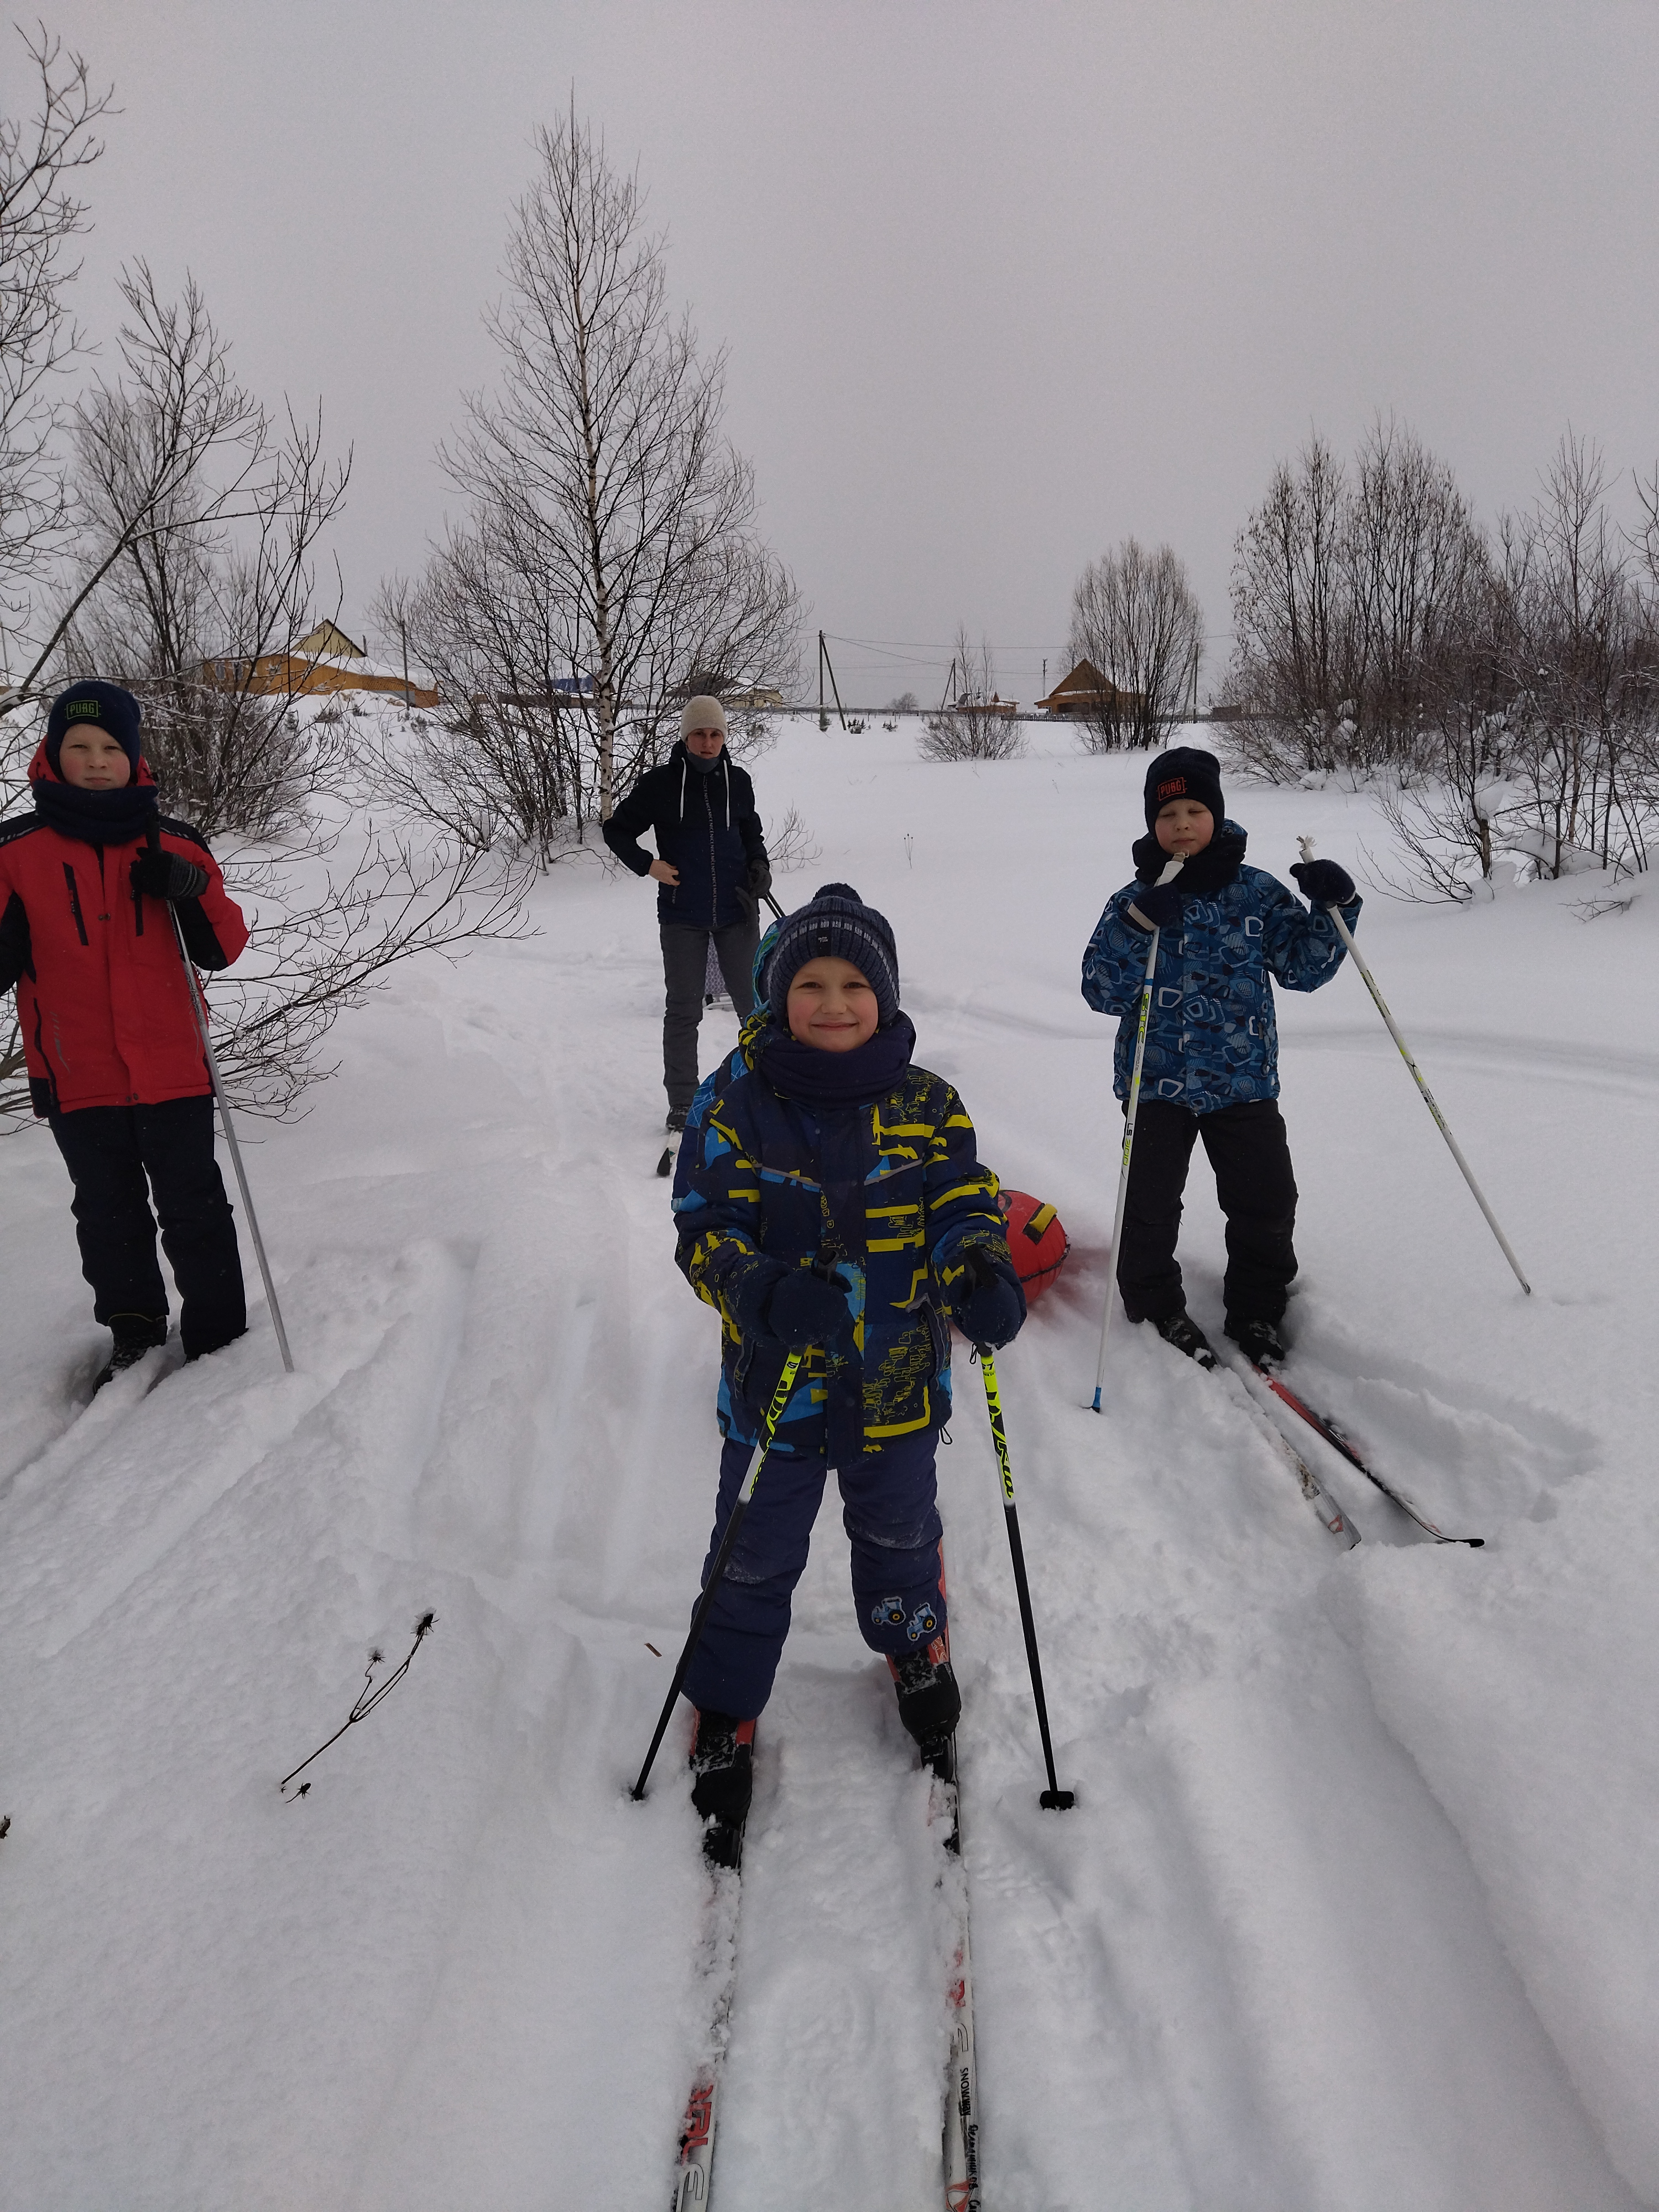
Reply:
[[[938,1431],[927,1429],[838,1469],[858,1632],[872,1650],[896,1659],[945,1637],[945,1526],[933,1484],[936,1451]],[[703,1579],[752,1455],[754,1447],[739,1438],[730,1438],[721,1453],[721,1489]],[[790,1632],[790,1597],[807,1564],[827,1473],[827,1460],[783,1458],[779,1451],[761,1469],[703,1641],[686,1674],[686,1697],[699,1710],[752,1721],[772,1694],[772,1677]]]

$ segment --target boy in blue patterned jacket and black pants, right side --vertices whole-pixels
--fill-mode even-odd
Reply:
[[[1279,1323],[1296,1274],[1272,982],[1287,991],[1329,982],[1343,940],[1325,907],[1340,907],[1352,929],[1360,900],[1334,860],[1292,867],[1312,914],[1283,883],[1245,867],[1245,834],[1221,803],[1221,763],[1194,745],[1161,752],[1146,770],[1146,830],[1133,849],[1135,883],[1108,902],[1084,953],[1084,998],[1119,1018],[1115,1091],[1128,1099],[1148,931],[1159,931],[1117,1287],[1130,1321],[1150,1321],[1179,1352],[1214,1365],[1175,1259],[1201,1137],[1228,1217],[1225,1329],[1270,1367],[1285,1356]],[[1159,887],[1177,854],[1181,874]]]

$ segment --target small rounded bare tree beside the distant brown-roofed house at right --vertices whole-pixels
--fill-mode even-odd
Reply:
[[[1110,686],[1079,723],[1091,750],[1157,745],[1188,708],[1203,659],[1203,608],[1179,553],[1126,538],[1093,560],[1071,595],[1068,650]]]

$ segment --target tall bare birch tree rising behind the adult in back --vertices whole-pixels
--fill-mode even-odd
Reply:
[[[538,133],[507,276],[487,319],[500,385],[469,400],[442,458],[491,549],[469,577],[529,588],[546,657],[586,679],[584,796],[604,818],[688,684],[787,679],[799,595],[757,535],[754,471],[721,431],[726,356],[701,356],[690,321],[670,316],[639,179],[575,108]],[[504,670],[498,688],[513,688]]]

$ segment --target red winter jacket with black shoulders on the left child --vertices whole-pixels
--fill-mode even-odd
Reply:
[[[64,781],[44,745],[29,781]],[[137,781],[155,783],[144,761]],[[157,816],[157,827],[164,852],[208,872],[201,898],[177,902],[192,962],[230,967],[248,925],[217,860],[188,823]],[[142,849],[142,834],[88,845],[35,814],[0,823],[0,991],[18,987],[38,1115],[155,1106],[212,1088],[166,900],[133,891]]]

